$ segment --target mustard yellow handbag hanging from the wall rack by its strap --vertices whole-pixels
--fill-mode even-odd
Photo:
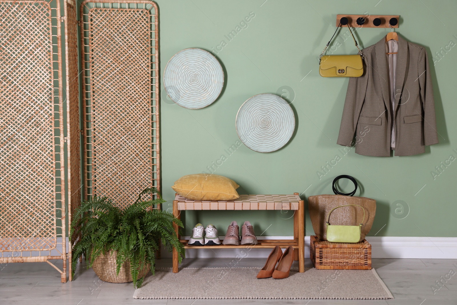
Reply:
[[[338,31],[338,26],[336,28],[336,31]],[[333,36],[335,36],[335,33],[333,34],[332,38],[330,38],[329,42],[324,48],[324,51],[319,56],[319,74],[320,76],[323,77],[359,77],[363,74],[363,54],[362,51],[360,50],[359,46],[357,45],[356,38],[352,34],[351,27],[349,27],[349,24],[347,25],[349,28],[349,31],[351,32],[352,38],[354,39],[354,42],[356,43],[356,47],[359,50],[359,52],[356,55],[324,55],[325,51],[329,47],[330,41],[332,41]]]

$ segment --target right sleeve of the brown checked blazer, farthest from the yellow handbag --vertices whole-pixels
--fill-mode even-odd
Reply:
[[[420,86],[420,102],[424,109],[424,144],[438,143],[436,130],[435,98],[433,97],[433,85],[430,76],[430,65],[427,51],[422,49],[418,61],[418,79]]]

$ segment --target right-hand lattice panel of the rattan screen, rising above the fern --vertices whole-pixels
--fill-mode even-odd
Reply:
[[[100,38],[101,35],[95,38],[91,36],[93,33],[96,33],[97,27],[99,29],[103,29],[103,31],[112,31],[109,33],[111,40],[107,41],[106,43],[110,43],[110,47],[106,48],[105,52],[110,52],[111,48],[118,48],[117,52],[119,58],[122,59],[127,52],[125,52],[125,48],[122,48],[122,44],[119,42],[124,41],[124,37],[122,35],[117,35],[114,32],[116,26],[122,25],[122,29],[125,27],[128,28],[132,35],[137,35],[136,37],[144,38],[145,32],[139,32],[141,29],[145,30],[144,24],[140,22],[141,20],[145,21],[144,14],[148,14],[146,19],[149,19],[149,32],[146,33],[149,37],[149,59],[146,68],[148,74],[147,76],[147,83],[146,79],[134,79],[132,81],[136,81],[140,84],[144,84],[146,86],[138,86],[140,89],[143,90],[143,93],[147,91],[148,97],[148,113],[143,113],[143,120],[148,119],[149,122],[147,124],[143,124],[142,127],[138,127],[138,125],[133,126],[134,128],[138,127],[138,133],[128,133],[122,131],[122,128],[117,128],[116,126],[112,127],[110,124],[117,123],[117,118],[113,119],[112,121],[106,122],[102,118],[109,118],[108,115],[105,117],[102,114],[112,114],[108,106],[111,105],[103,105],[103,102],[106,101],[107,97],[112,98],[113,104],[122,107],[130,107],[130,105],[124,105],[117,101],[116,104],[116,94],[112,92],[107,92],[107,88],[109,90],[115,91],[117,89],[122,89],[119,85],[123,86],[122,84],[122,77],[124,75],[119,73],[119,70],[125,69],[132,69],[132,62],[119,62],[117,66],[113,68],[113,66],[105,65],[102,66],[100,64],[101,60],[101,53],[97,53],[99,49],[105,47],[103,44],[100,43],[100,40],[97,40],[97,37]],[[91,17],[91,18],[90,18]],[[135,19],[137,18],[138,19]],[[112,19],[103,19],[103,18],[112,18]],[[104,22],[104,23],[102,23]],[[122,23],[123,22],[123,23]],[[80,39],[81,39],[81,63],[83,69],[82,75],[82,94],[83,94],[83,175],[84,175],[84,197],[83,198],[90,198],[93,195],[96,196],[108,196],[109,198],[113,199],[115,203],[117,203],[120,207],[125,208],[129,204],[133,203],[138,193],[144,187],[157,187],[160,190],[160,152],[159,152],[159,29],[158,29],[158,8],[157,5],[153,1],[148,0],[121,0],[121,1],[110,1],[110,0],[85,0],[80,5]],[[130,26],[130,27],[129,27]],[[95,30],[94,30],[95,29]],[[93,32],[91,32],[93,31]],[[114,37],[114,38],[113,38]],[[106,37],[102,37],[106,38]],[[125,39],[127,40],[127,38]],[[117,44],[119,43],[119,44]],[[121,46],[121,48],[120,48]],[[139,47],[145,47],[146,45],[141,45],[136,41],[128,45],[128,47],[132,48],[129,52],[137,52],[135,54],[142,54],[144,55],[144,51],[138,51]],[[125,53],[122,53],[125,52]],[[142,53],[143,52],[143,53]],[[103,55],[103,54],[102,54]],[[117,55],[117,54],[116,54]],[[130,54],[127,54],[130,55]],[[99,56],[97,58],[97,56]],[[95,59],[94,59],[95,58]],[[102,58],[103,59],[103,58]],[[141,60],[144,59],[143,57],[140,58]],[[141,61],[141,60],[138,61]],[[98,61],[97,61],[98,60]],[[135,62],[136,64],[136,62]],[[105,84],[101,84],[101,81],[97,84],[98,80],[101,80],[101,72],[102,68],[111,69],[113,68],[116,78],[109,79],[106,82],[109,82],[108,86],[104,86]],[[134,69],[134,68],[133,68]],[[144,69],[137,69],[136,71],[138,74],[141,74]],[[98,73],[98,74],[97,74]],[[138,76],[139,78],[139,76]],[[94,81],[95,79],[95,81]],[[106,76],[108,79],[108,76]],[[105,80],[105,79],[104,79]],[[142,82],[143,80],[143,82]],[[130,81],[130,80],[129,80]],[[103,86],[102,86],[103,85]],[[94,89],[97,90],[97,95],[101,95],[102,98],[98,101],[94,96]],[[131,87],[129,87],[131,89]],[[105,91],[104,91],[105,90]],[[146,90],[146,91],[144,91]],[[121,96],[122,92],[117,91],[118,95]],[[111,94],[111,95],[110,95]],[[142,97],[141,93],[137,96]],[[143,94],[143,97],[145,95]],[[144,97],[146,98],[146,97]],[[94,100],[96,102],[94,102]],[[99,104],[97,104],[97,102]],[[136,105],[133,102],[133,98],[130,96],[124,103],[131,103],[131,107],[138,107],[140,110],[144,110],[141,107],[144,107],[144,104]],[[143,106],[142,106],[143,105]],[[99,108],[97,108],[99,107]],[[105,107],[105,108],[103,108]],[[115,108],[115,107],[112,107]],[[104,112],[105,111],[105,112]],[[128,111],[128,109],[127,109]],[[113,111],[114,113],[114,111]],[[98,117],[97,117],[98,116]],[[100,117],[100,119],[98,119]],[[139,117],[139,116],[138,116]],[[149,118],[147,118],[149,117]],[[131,116],[131,119],[136,119],[136,117]],[[129,120],[125,119],[122,121],[130,122]],[[140,122],[142,122],[140,120]],[[148,130],[146,130],[145,126],[148,125]],[[122,126],[121,126],[122,127]],[[133,129],[134,129],[133,128]],[[141,129],[143,128],[143,129]],[[141,130],[140,130],[141,129]],[[98,130],[105,131],[104,134],[99,132]],[[97,134],[97,132],[99,132]],[[123,132],[123,135],[122,135]],[[111,142],[109,136],[113,133],[119,133],[122,136],[117,138],[112,137]],[[103,137],[102,137],[103,135]],[[132,137],[140,137],[143,135],[141,139],[132,139],[135,142],[136,148],[138,150],[138,155],[143,157],[144,151],[147,152],[149,160],[138,161],[133,164],[129,164],[125,166],[126,160],[129,160],[132,157],[133,148],[127,147],[129,145],[126,142],[122,142],[124,136],[132,136]],[[98,138],[97,138],[98,137]],[[121,139],[119,139],[121,138]],[[146,139],[147,138],[147,139]],[[113,141],[119,140],[120,142],[113,143]],[[97,142],[98,141],[98,142]],[[103,143],[105,141],[106,143]],[[138,142],[143,143],[139,145]],[[95,144],[94,144],[95,143]],[[122,146],[125,144],[125,146]],[[103,146],[105,145],[105,146]],[[127,147],[126,151],[122,151],[124,147]],[[98,150],[97,150],[98,148]],[[130,149],[130,151],[128,151]],[[118,161],[119,168],[117,168],[117,163],[114,164],[114,158],[111,157],[111,160],[108,158],[103,159],[103,154],[105,154],[109,150],[111,155],[115,155]],[[112,150],[112,151],[111,151]],[[130,154],[130,155],[129,155]],[[138,158],[139,159],[139,158]],[[124,163],[122,163],[124,162]],[[122,167],[122,165],[124,165]],[[111,171],[113,170],[113,171]],[[145,171],[145,175],[141,177]],[[116,177],[116,175],[119,175]],[[139,176],[138,176],[139,175]],[[138,176],[138,177],[137,177]],[[146,177],[147,176],[147,177]],[[109,179],[111,181],[108,181]],[[105,179],[105,180],[103,180]],[[146,183],[142,182],[145,180],[149,180]],[[128,183],[127,183],[128,181]],[[122,184],[123,183],[123,184]],[[143,184],[142,184],[143,183]],[[118,196],[119,195],[119,196]]]

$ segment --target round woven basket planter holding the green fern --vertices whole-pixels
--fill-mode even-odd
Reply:
[[[92,264],[95,274],[104,282],[108,283],[129,283],[133,282],[132,274],[130,274],[130,262],[124,262],[119,270],[119,274],[116,273],[116,258],[117,251],[111,251],[110,253],[100,254]],[[138,278],[143,278],[149,272],[149,264],[147,264],[143,270],[139,270]]]

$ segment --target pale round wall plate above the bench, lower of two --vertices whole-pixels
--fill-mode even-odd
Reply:
[[[252,96],[236,115],[239,139],[251,150],[271,152],[286,145],[295,129],[290,105],[275,94]]]

